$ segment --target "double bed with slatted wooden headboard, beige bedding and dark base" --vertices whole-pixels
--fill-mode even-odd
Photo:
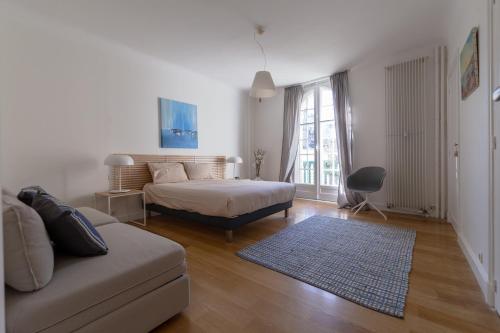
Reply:
[[[133,155],[134,165],[122,170],[125,188],[145,192],[148,213],[157,212],[233,230],[292,207],[295,186],[282,182],[223,179],[224,156]],[[153,184],[148,162],[209,163],[214,179]]]

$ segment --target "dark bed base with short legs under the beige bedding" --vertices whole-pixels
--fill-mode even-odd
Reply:
[[[226,240],[228,242],[231,242],[233,240],[234,229],[242,225],[260,220],[266,216],[281,212],[283,210],[285,211],[285,218],[287,218],[288,209],[291,207],[292,207],[292,201],[288,201],[273,206],[265,207],[256,210],[255,212],[239,215],[236,217],[221,217],[221,216],[202,215],[198,213],[188,212],[185,210],[171,209],[157,204],[146,205],[148,214],[150,214],[151,212],[157,212],[164,215],[176,216],[182,219],[196,221],[203,224],[208,224],[216,226],[218,228],[222,228],[226,231]]]

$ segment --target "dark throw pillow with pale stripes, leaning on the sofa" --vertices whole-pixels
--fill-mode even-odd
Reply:
[[[75,208],[48,194],[37,194],[32,207],[42,217],[57,250],[75,256],[95,256],[108,252],[101,235]]]

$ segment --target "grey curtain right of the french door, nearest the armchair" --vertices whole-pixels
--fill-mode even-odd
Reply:
[[[351,96],[347,71],[333,74],[330,77],[333,93],[333,109],[335,114],[335,130],[340,163],[340,181],[337,195],[339,208],[352,207],[361,202],[359,194],[347,189],[347,176],[352,172],[352,127]]]

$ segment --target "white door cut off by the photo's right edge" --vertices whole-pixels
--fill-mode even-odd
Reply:
[[[493,5],[493,86],[500,86],[500,5]],[[500,101],[493,104],[493,131],[500,138]],[[500,147],[493,158],[493,216],[494,216],[494,266],[495,280],[500,281]],[[495,293],[495,308],[500,313],[500,293]]]

